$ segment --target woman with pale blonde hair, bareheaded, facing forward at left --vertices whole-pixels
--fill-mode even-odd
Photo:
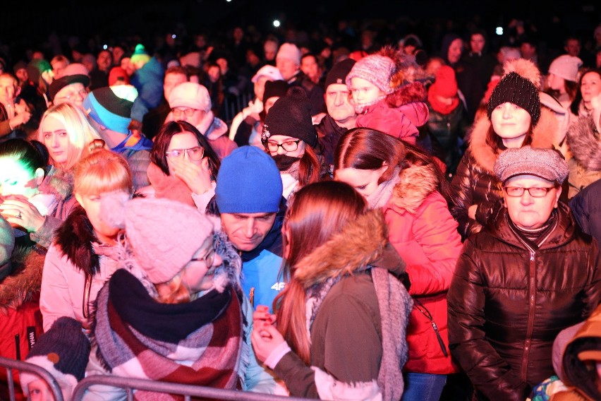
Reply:
[[[71,104],[58,104],[44,112],[37,138],[49,154],[47,172],[39,190],[53,206],[44,214],[24,198],[8,198],[0,204],[0,213],[11,224],[23,227],[33,241],[47,249],[54,231],[76,203],[73,167],[87,153],[87,145],[100,136],[80,109]]]

